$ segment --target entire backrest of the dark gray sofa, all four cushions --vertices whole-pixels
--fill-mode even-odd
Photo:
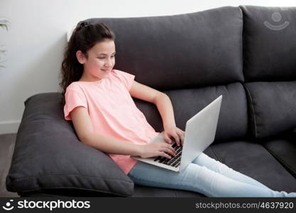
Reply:
[[[296,127],[296,8],[221,7],[174,16],[90,18],[116,34],[114,68],[170,96],[177,126],[224,95],[216,141]],[[294,101],[293,101],[294,100]],[[156,131],[153,104],[135,99]]]

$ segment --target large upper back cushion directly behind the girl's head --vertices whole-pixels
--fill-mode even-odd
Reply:
[[[238,7],[89,21],[104,22],[116,34],[114,68],[155,89],[243,82],[243,17]]]

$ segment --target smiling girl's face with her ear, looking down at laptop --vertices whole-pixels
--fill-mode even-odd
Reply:
[[[109,77],[115,65],[114,40],[104,40],[87,51],[87,56],[77,51],[77,60],[83,64],[83,74],[80,80],[94,82]]]

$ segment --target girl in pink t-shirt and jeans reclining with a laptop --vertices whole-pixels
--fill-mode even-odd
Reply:
[[[82,143],[108,153],[138,185],[192,190],[208,197],[296,197],[295,192],[270,190],[204,153],[180,173],[130,158],[171,158],[175,155],[172,138],[182,146],[185,132],[175,125],[166,94],[136,82],[134,75],[113,69],[114,39],[104,23],[83,21],[77,24],[65,49],[60,82],[65,119],[72,120]],[[147,143],[159,132],[148,124],[131,97],[158,107],[167,143]]]

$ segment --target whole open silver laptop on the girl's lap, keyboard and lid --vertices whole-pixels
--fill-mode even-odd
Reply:
[[[177,146],[177,143],[175,143],[175,140],[172,138],[172,147],[175,148],[176,155],[172,156],[169,154],[172,157],[171,159],[163,156],[153,158],[131,156],[131,158],[175,172],[184,170],[187,165],[192,163],[194,158],[197,158],[197,156],[214,141],[221,102],[222,95],[217,97],[212,103],[207,105],[207,107],[204,107],[204,109],[192,116],[192,118],[186,122],[183,146]],[[163,132],[158,134],[158,136],[148,143],[159,141],[167,143],[163,137]]]

